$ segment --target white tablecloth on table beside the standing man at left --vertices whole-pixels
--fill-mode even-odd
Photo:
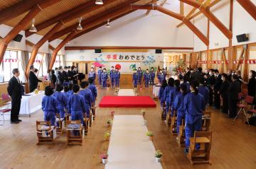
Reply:
[[[30,115],[40,110],[43,96],[44,91],[39,91],[38,94],[28,93],[28,95],[23,95],[21,99],[20,115]]]

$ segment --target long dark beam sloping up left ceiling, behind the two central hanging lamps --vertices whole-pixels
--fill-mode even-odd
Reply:
[[[95,16],[92,16],[92,17],[90,17],[88,19],[85,19],[84,21],[82,21],[81,25],[83,27],[83,26],[86,26],[86,25],[92,23],[95,20],[99,20],[99,19],[101,20],[102,17],[105,17],[106,15],[108,15],[108,14],[118,10],[119,8],[123,8],[125,6],[129,6],[130,4],[133,4],[133,3],[137,2],[137,1],[138,0],[129,0],[129,1],[126,1],[126,2],[124,2],[122,4],[119,4],[118,6],[114,6],[113,8],[110,8],[107,11],[104,11],[104,12],[99,13],[99,14],[97,14]],[[76,29],[77,27],[78,27],[77,23],[75,23],[73,25],[70,25],[68,28],[65,28],[65,29],[60,30],[59,32],[55,33],[52,37],[50,37],[49,41],[53,41],[53,40],[57,39],[58,37],[62,37],[63,35],[65,35],[67,33],[70,33],[70,31],[72,31],[73,29]]]

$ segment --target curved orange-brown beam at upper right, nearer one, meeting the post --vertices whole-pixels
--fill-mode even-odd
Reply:
[[[201,5],[197,1],[192,1],[192,0],[180,0],[180,1],[183,1],[186,4],[189,4],[191,6],[194,6],[195,8],[198,8],[210,20],[210,22],[212,22],[225,35],[225,37],[228,38],[228,40],[232,39],[233,37],[232,31],[226,28],[225,25],[223,25],[223,23],[221,23],[220,20],[218,20],[218,18],[214,16],[213,13],[210,12],[210,10],[208,10],[208,8]]]

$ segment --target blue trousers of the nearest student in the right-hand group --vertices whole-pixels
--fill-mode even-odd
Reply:
[[[196,120],[196,122],[194,122],[193,124],[186,124],[185,127],[185,136],[186,136],[186,141],[185,141],[185,145],[186,148],[189,147],[190,142],[189,139],[193,136],[195,131],[200,131],[202,127],[202,120],[198,119]],[[196,147],[198,147],[199,145],[196,145]]]

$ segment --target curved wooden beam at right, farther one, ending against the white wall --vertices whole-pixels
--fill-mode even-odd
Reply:
[[[152,6],[151,5],[132,5],[132,9],[149,9],[149,8],[152,8]],[[163,8],[161,6],[154,6],[154,8],[152,8],[152,9],[160,11],[161,13],[165,13],[166,15],[169,15],[169,16],[171,16],[173,18],[176,18],[176,19],[182,21],[185,25],[188,26],[188,28],[190,30],[193,31],[193,33],[195,33],[199,37],[199,39],[201,39],[203,41],[203,43],[206,46],[209,45],[208,37],[206,37],[206,35],[203,35],[203,33],[201,33],[201,31],[198,30],[198,28],[196,28],[196,26],[193,25],[193,23],[188,21],[188,19],[185,16],[182,16],[179,13],[175,13],[175,12],[170,11],[170,10],[168,10],[166,8]]]

